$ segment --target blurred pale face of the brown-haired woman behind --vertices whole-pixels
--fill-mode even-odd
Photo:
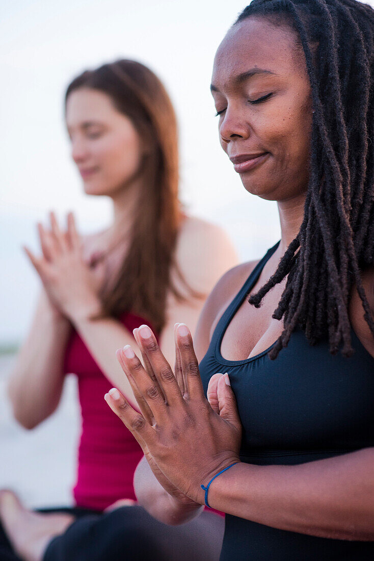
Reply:
[[[117,111],[107,94],[80,88],[66,103],[72,158],[90,195],[116,195],[141,162],[141,142],[130,118]]]

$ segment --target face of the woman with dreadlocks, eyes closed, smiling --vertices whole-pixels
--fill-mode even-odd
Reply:
[[[234,25],[216,53],[211,90],[221,146],[247,191],[277,201],[306,191],[311,90],[293,31],[255,17]]]

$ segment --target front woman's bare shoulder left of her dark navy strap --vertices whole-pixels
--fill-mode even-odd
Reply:
[[[216,283],[205,302],[198,321],[195,350],[199,359],[205,355],[214,329],[222,314],[242,288],[257,263],[258,260],[241,263],[230,269]]]

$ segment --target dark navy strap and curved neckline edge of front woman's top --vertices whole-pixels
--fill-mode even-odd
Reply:
[[[215,344],[215,350],[214,350],[215,359],[220,364],[224,364],[224,365],[227,365],[227,366],[248,364],[249,362],[253,362],[254,360],[257,360],[257,358],[261,358],[262,356],[267,355],[267,353],[275,346],[276,342],[278,341],[278,339],[276,339],[276,341],[274,341],[274,343],[272,343],[264,351],[261,351],[260,353],[257,353],[257,355],[251,356],[249,358],[242,358],[242,360],[228,360],[227,358],[224,358],[221,355],[221,344],[222,344],[224,335],[227,332],[227,329],[228,329],[230,323],[232,322],[232,320],[234,318],[234,315],[239,310],[239,307],[243,304],[244,298],[246,298],[247,293],[252,290],[253,286],[255,286],[255,283],[258,280],[258,277],[260,277],[262,269],[264,269],[264,266],[266,265],[267,261],[269,261],[270,257],[274,254],[275,250],[278,248],[279,243],[280,243],[280,241],[277,242],[273,247],[271,247],[266,252],[264,257],[262,257],[262,259],[260,259],[260,261],[258,261],[255,268],[248,275],[248,277],[247,277],[246,281],[244,282],[242,288],[239,290],[237,295],[234,296],[234,298],[230,302],[229,306],[227,307],[227,311],[230,310],[231,307],[232,307],[232,310],[230,310],[230,312],[228,314],[228,318],[227,318],[227,321],[225,322],[224,329],[221,331],[221,333],[217,337],[217,341],[216,341],[216,344]],[[225,313],[221,317],[221,320],[224,320],[224,319],[226,319],[225,318]]]

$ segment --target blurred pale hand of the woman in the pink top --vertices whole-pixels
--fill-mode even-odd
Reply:
[[[85,263],[73,214],[68,214],[66,232],[61,231],[54,213],[50,213],[50,229],[38,224],[38,231],[41,256],[27,247],[25,251],[50,301],[72,323],[98,314],[104,266],[100,263],[94,270]]]

